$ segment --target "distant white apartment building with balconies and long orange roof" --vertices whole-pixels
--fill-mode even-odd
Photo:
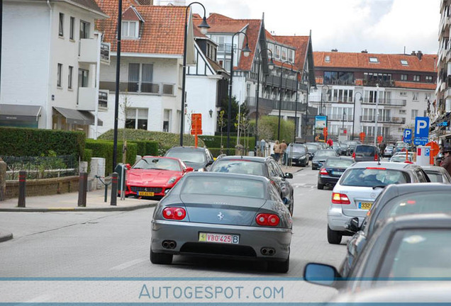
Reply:
[[[328,135],[400,141],[435,99],[436,55],[314,52],[317,89],[310,102],[328,116]],[[377,131],[376,131],[377,120]]]

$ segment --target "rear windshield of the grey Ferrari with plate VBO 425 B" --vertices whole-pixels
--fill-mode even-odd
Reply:
[[[185,179],[182,193],[265,198],[265,183],[235,177],[191,176]]]

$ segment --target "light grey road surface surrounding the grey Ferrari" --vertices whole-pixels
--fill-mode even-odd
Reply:
[[[328,244],[326,213],[331,191],[316,189],[318,171],[294,174],[294,234],[290,270],[268,273],[265,263],[175,256],[171,266],[149,261],[153,208],[133,212],[1,212],[14,239],[0,244],[1,277],[38,278],[301,278],[310,261],[339,266],[342,245]],[[277,281],[277,280],[276,280]],[[327,301],[334,289],[299,283],[300,301]]]

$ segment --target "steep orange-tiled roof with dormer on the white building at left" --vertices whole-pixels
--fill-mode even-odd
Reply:
[[[104,41],[111,42],[111,50],[116,51],[116,28],[118,0],[96,0],[107,20],[98,21],[96,26],[104,31]],[[123,0],[123,11],[133,0]],[[144,19],[140,29],[141,37],[137,40],[122,40],[122,52],[150,54],[183,54],[184,22],[186,6],[135,6]]]

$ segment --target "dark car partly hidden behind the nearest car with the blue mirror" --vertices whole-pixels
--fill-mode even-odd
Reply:
[[[387,186],[377,197],[368,217],[359,227],[358,218],[347,222],[347,230],[355,232],[347,243],[347,254],[340,274],[347,276],[368,239],[386,219],[396,215],[451,212],[451,186],[440,183],[410,183]]]

